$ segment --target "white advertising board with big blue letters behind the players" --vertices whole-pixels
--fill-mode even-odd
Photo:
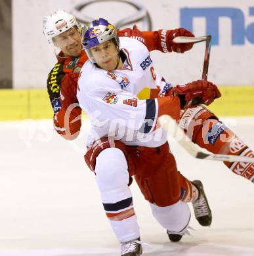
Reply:
[[[140,30],[184,27],[195,35],[211,34],[209,79],[219,85],[254,84],[254,4],[251,0],[14,0],[14,87],[43,88],[56,62],[42,32],[43,16],[57,9],[83,22],[104,17],[118,28],[138,24]],[[201,77],[205,43],[184,54],[154,52],[157,72],[173,83]],[[25,61],[24,61],[25,60]]]

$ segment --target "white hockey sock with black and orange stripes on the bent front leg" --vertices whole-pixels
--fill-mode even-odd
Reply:
[[[106,148],[96,158],[96,182],[106,215],[119,242],[140,237],[134,214],[127,161],[118,148]]]

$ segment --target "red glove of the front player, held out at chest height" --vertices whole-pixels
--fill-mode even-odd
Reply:
[[[181,108],[200,103],[209,105],[215,98],[221,96],[217,86],[206,80],[198,80],[186,83],[185,85],[177,85],[176,87],[173,87],[173,91],[179,95]]]

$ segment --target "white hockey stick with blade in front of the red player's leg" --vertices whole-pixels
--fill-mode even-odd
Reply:
[[[159,125],[165,129],[169,135],[171,135],[179,144],[194,158],[203,160],[213,160],[213,161],[240,161],[244,163],[254,163],[254,158],[249,158],[247,156],[234,156],[234,155],[224,155],[224,154],[211,154],[208,151],[204,152],[200,146],[194,144],[184,131],[179,127],[179,125],[169,116],[161,116],[158,119]]]

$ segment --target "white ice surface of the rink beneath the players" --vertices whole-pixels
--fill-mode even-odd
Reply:
[[[254,148],[254,118],[226,120]],[[83,160],[88,121],[82,128],[75,142],[67,142],[51,120],[0,123],[0,256],[119,255],[95,177]],[[196,231],[173,244],[133,184],[142,241],[150,244],[143,255],[254,255],[253,184],[220,162],[195,160],[177,143],[171,149],[179,170],[203,181],[213,223],[201,227],[192,215]]]

